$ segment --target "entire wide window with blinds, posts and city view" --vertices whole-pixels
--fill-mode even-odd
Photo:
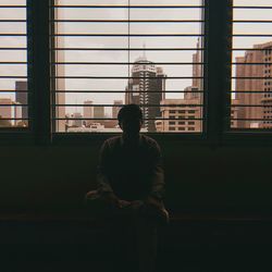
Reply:
[[[269,139],[271,10],[269,0],[2,0],[0,137],[119,133],[120,108],[136,102],[145,133]]]

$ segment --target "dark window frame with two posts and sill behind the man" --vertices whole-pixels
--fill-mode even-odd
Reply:
[[[52,133],[52,94],[50,47],[53,40],[53,0],[27,0],[27,61],[30,129],[0,131],[0,143],[34,145],[86,145],[101,141],[115,133]],[[230,102],[232,76],[232,0],[203,0],[205,50],[203,62],[203,124],[202,133],[147,133],[157,140],[210,147],[271,145],[272,132],[230,131],[227,101]],[[220,91],[219,91],[220,90]]]

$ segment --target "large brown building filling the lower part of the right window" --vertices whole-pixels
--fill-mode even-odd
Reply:
[[[244,57],[236,58],[236,63],[240,63],[236,65],[236,91],[240,91],[236,94],[236,98],[240,104],[249,106],[240,107],[238,119],[251,120],[238,121],[238,127],[271,128],[272,122],[265,121],[265,119],[272,119],[272,41],[255,45],[254,49],[256,50],[248,50]],[[240,79],[238,77],[263,77],[263,79]],[[263,121],[258,121],[261,119]]]

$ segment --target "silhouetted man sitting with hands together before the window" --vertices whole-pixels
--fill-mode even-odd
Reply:
[[[118,221],[122,234],[127,230],[135,234],[139,271],[151,272],[157,252],[157,224],[168,221],[162,202],[161,151],[154,139],[139,134],[143,113],[138,106],[124,106],[118,119],[123,134],[102,145],[98,193],[111,207],[112,219]]]

